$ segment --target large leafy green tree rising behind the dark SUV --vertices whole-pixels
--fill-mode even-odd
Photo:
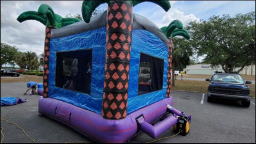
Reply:
[[[206,55],[205,63],[222,65],[225,72],[255,62],[255,11],[246,14],[213,16],[209,21],[193,21],[188,26],[193,47]]]

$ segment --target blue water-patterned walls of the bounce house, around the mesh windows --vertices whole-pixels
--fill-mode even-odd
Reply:
[[[102,111],[103,84],[105,78],[105,47],[106,27],[82,32],[81,34],[75,34],[73,36],[51,39],[49,97],[100,114]],[[86,49],[92,49],[92,82],[90,95],[55,86],[57,53],[60,51]],[[140,53],[164,59],[164,76],[161,90],[138,96]],[[132,31],[128,114],[166,98],[167,56],[167,47],[158,36],[143,29]]]

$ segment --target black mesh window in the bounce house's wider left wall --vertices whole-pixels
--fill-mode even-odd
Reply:
[[[57,53],[56,86],[90,94],[92,50]]]

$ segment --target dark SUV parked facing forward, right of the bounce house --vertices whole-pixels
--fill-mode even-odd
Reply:
[[[214,98],[233,99],[242,102],[243,107],[250,107],[250,88],[247,84],[252,81],[244,81],[241,75],[232,74],[214,74],[208,88],[208,102],[212,102]]]

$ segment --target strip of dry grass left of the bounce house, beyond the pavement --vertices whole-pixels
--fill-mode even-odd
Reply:
[[[19,78],[16,77],[1,77],[1,83],[27,83],[28,81],[34,81],[36,83],[42,83],[42,77],[37,75],[23,75]]]

